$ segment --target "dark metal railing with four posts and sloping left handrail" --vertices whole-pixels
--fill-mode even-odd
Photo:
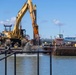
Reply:
[[[44,51],[23,51],[23,50],[5,50],[0,52],[0,55],[5,54],[4,57],[0,58],[0,61],[5,60],[5,75],[7,75],[7,58],[11,55],[14,55],[14,75],[16,75],[16,55],[23,54],[23,53],[36,53],[37,54],[37,75],[39,75],[39,54],[40,53],[49,53],[50,57],[50,75],[52,75],[52,51],[51,50],[44,50]]]

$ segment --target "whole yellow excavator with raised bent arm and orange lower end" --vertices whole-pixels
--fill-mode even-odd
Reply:
[[[34,44],[36,44],[36,39],[39,38],[39,32],[38,32],[38,25],[36,23],[36,5],[33,5],[32,0],[27,0],[21,10],[18,12],[16,16],[16,22],[14,25],[14,29],[12,31],[3,31],[2,34],[4,34],[3,39],[10,39],[11,41],[18,42],[21,45],[21,40],[25,38],[23,35],[24,29],[21,28],[20,22],[22,20],[22,17],[24,14],[29,11],[30,17],[32,20],[32,27],[33,27],[33,39]],[[5,25],[6,27],[7,25]]]

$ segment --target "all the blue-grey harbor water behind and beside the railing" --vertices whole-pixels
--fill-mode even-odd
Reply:
[[[39,75],[50,75],[49,55],[39,57]],[[14,75],[13,56],[7,60],[7,75]],[[16,69],[17,75],[37,75],[37,56],[17,56]],[[5,75],[4,60],[0,61],[0,75]],[[76,56],[52,56],[52,75],[76,75]]]

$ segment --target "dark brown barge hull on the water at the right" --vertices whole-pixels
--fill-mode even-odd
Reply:
[[[53,50],[53,54],[57,56],[76,56],[76,47],[60,46]]]

